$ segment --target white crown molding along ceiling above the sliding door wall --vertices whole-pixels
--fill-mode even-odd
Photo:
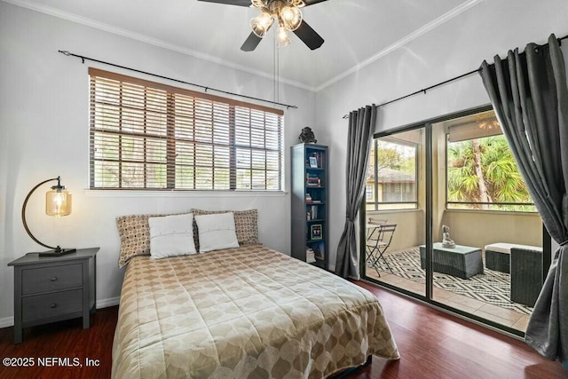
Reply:
[[[337,75],[334,78],[328,80],[326,83],[319,85],[318,87],[316,87],[315,91],[319,92],[319,91],[327,88],[331,84],[339,82],[344,77],[356,73],[361,68],[366,67],[366,66],[370,65],[371,63],[375,62],[375,60],[381,59],[385,55],[390,54],[392,51],[400,49],[402,46],[406,45],[406,43],[410,43],[411,41],[414,41],[419,36],[422,36],[422,35],[430,32],[430,30],[432,30],[434,28],[438,28],[440,25],[444,24],[446,21],[454,19],[454,17],[458,16],[462,12],[469,10],[469,8],[475,6],[475,5],[477,5],[477,4],[479,4],[483,1],[484,0],[469,0],[466,3],[463,3],[463,4],[456,6],[451,11],[446,12],[443,15],[441,15],[440,17],[438,17],[438,19],[430,21],[428,24],[424,25],[422,28],[418,28],[418,29],[414,30],[414,32],[409,34],[408,36],[405,36],[404,38],[399,39],[397,42],[390,44],[387,48],[383,49],[382,51],[377,52],[374,56],[363,60],[361,63],[359,63],[359,65],[357,65],[355,67],[351,67],[349,70],[343,72],[342,74]]]

